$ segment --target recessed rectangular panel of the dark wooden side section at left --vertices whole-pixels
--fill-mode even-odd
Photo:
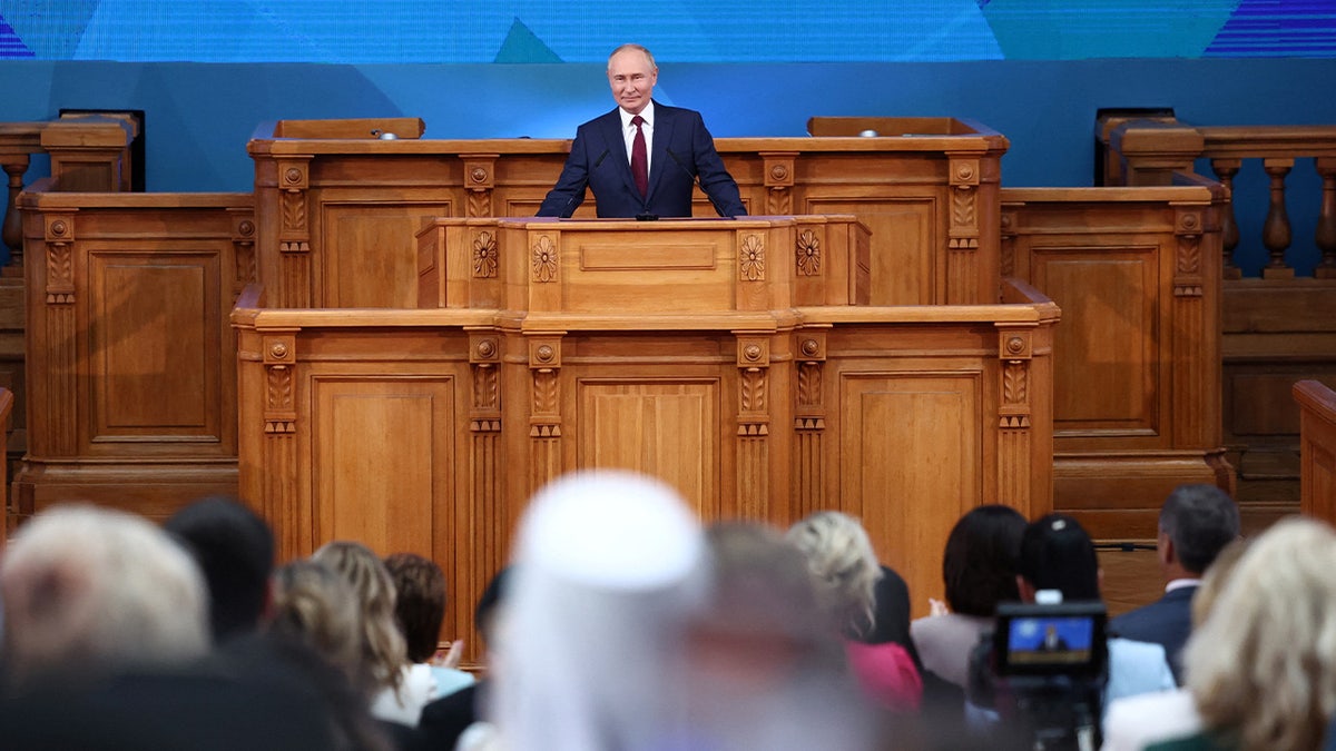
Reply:
[[[91,440],[222,440],[215,254],[90,253]]]

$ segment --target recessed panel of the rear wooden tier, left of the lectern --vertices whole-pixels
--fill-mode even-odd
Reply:
[[[422,222],[448,215],[448,203],[322,204],[323,275],[318,307],[417,307],[417,251]]]

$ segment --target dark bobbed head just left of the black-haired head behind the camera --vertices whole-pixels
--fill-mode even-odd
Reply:
[[[1002,505],[973,508],[955,522],[942,555],[951,612],[993,617],[998,603],[1021,597],[1015,575],[1026,525],[1021,512]]]

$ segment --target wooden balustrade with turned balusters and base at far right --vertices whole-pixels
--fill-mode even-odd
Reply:
[[[1336,126],[1113,116],[1100,120],[1097,138],[1105,184],[1206,179],[1226,188],[1220,245],[1226,456],[1238,468],[1240,501],[1260,521],[1296,512],[1300,417],[1291,392],[1301,380],[1336,384]],[[1317,184],[1320,196],[1312,192]]]

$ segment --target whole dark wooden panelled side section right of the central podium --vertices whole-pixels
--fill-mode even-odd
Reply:
[[[1002,194],[1002,266],[1063,310],[1054,505],[1153,539],[1176,485],[1233,490],[1220,429],[1220,226],[1208,187]]]

